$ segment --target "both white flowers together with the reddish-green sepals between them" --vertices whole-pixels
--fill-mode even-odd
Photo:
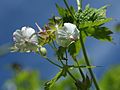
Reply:
[[[21,30],[16,30],[13,33],[13,40],[15,42],[14,51],[35,52],[39,46],[42,46],[39,44],[47,40],[53,31],[55,31],[52,33],[56,37],[55,41],[62,47],[68,47],[71,43],[79,39],[79,30],[72,23],[64,23],[63,27],[56,27],[56,30],[42,30],[40,27],[38,28],[40,29],[39,32],[35,32],[31,27],[22,27]],[[39,38],[43,40],[39,40]]]

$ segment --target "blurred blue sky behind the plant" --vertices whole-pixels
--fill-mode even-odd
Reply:
[[[76,5],[75,0],[68,1],[69,4]],[[97,8],[111,4],[107,10],[107,16],[112,17],[113,21],[106,25],[113,30],[113,26],[120,22],[120,0],[83,1],[83,6],[89,3],[91,7]],[[20,29],[23,26],[31,26],[37,29],[35,22],[38,22],[42,27],[48,22],[48,18],[52,15],[58,15],[55,3],[64,6],[62,0],[0,0],[0,47],[4,44],[12,43],[12,33],[16,29]],[[91,62],[94,65],[104,66],[95,69],[97,77],[102,72],[105,72],[109,66],[120,63],[120,36],[119,34],[113,36],[115,39],[114,42],[117,44],[100,42],[93,38],[88,38],[86,41]],[[48,51],[51,51],[51,49],[48,49]],[[8,53],[0,57],[0,87],[5,80],[11,78],[13,75],[9,67],[9,64],[12,62],[21,63],[26,69],[39,70],[43,79],[50,79],[57,72],[55,66],[34,53]]]

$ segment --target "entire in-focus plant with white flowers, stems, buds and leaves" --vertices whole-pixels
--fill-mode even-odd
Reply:
[[[86,5],[85,9],[82,10],[82,0],[77,0],[78,10],[75,10],[74,7],[69,7],[67,0],[63,1],[67,8],[62,8],[56,4],[60,17],[53,16],[49,19],[49,23],[42,29],[36,23],[39,29],[38,32],[31,27],[22,27],[21,30],[16,30],[13,33],[14,45],[11,49],[12,51],[39,53],[50,63],[61,68],[60,72],[45,84],[45,90],[48,90],[61,76],[66,76],[67,74],[73,78],[78,90],[90,89],[92,81],[96,90],[99,90],[84,43],[87,36],[94,37],[98,40],[112,41],[112,37],[110,36],[112,31],[103,26],[111,20],[111,18],[106,17],[107,6],[96,9]],[[45,48],[46,44],[55,51],[58,62],[61,65],[48,58]],[[88,71],[92,79],[87,74],[84,74],[76,57],[80,53],[81,48],[86,65],[90,67]],[[76,65],[75,63],[72,65],[68,63],[67,53]],[[74,77],[69,71],[69,68],[79,69],[82,80]]]

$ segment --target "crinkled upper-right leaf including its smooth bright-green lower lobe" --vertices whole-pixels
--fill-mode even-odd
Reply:
[[[106,8],[107,7],[108,7],[108,5],[103,6],[99,9],[96,9],[96,8],[91,8],[88,4],[88,5],[86,5],[86,7],[83,11],[76,12],[75,16],[77,18],[77,23],[79,23],[79,25],[80,25],[79,28],[89,27],[89,26],[99,26],[99,25],[102,25],[102,24],[110,21],[111,19],[109,20],[109,18],[106,18]],[[98,22],[100,22],[100,23],[98,23]],[[98,25],[97,25],[97,23],[98,23]],[[87,25],[87,24],[89,24],[89,25]]]

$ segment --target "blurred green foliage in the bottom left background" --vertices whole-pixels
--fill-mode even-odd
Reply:
[[[21,71],[11,79],[17,90],[40,90],[38,73],[35,71]]]

